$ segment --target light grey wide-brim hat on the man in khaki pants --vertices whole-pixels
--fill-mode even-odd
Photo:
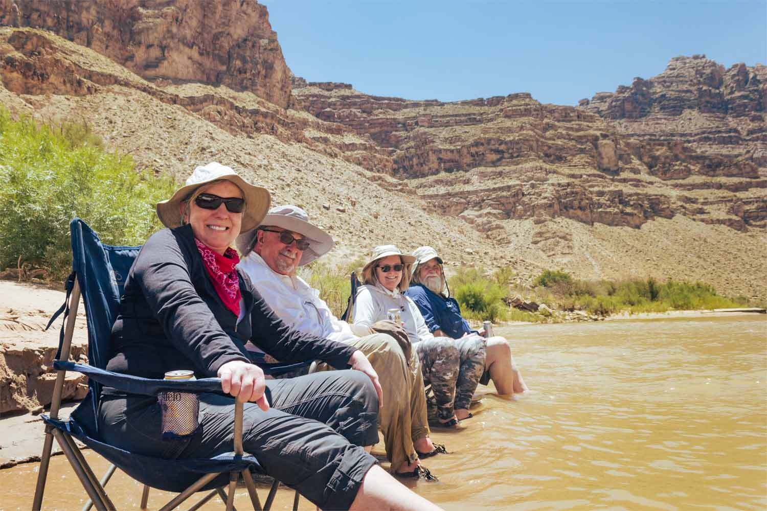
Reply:
[[[261,227],[266,226],[293,231],[308,239],[309,247],[301,255],[298,266],[309,264],[321,255],[328,253],[335,244],[330,234],[309,223],[309,215],[298,206],[275,206],[270,209],[268,215],[261,221]],[[253,229],[249,232],[245,232],[245,229],[243,229],[242,234],[237,237],[237,250],[239,250],[242,257],[247,256],[253,250],[257,234],[258,229]]]

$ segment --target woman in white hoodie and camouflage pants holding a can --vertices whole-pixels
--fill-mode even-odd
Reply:
[[[357,289],[354,324],[370,326],[387,319],[389,310],[399,310],[403,329],[420,359],[423,382],[432,386],[437,420],[445,427],[454,427],[459,420],[471,417],[469,405],[482,377],[486,345],[479,336],[433,336],[418,306],[403,294],[414,261],[415,257],[394,245],[373,249],[370,262],[362,270],[365,285]]]

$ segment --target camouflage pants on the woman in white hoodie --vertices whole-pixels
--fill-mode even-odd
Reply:
[[[415,344],[423,383],[431,384],[436,414],[446,421],[455,408],[469,408],[485,369],[486,342],[480,336],[435,337]]]

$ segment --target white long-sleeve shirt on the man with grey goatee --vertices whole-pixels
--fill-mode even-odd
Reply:
[[[301,277],[278,274],[255,252],[240,260],[237,266],[248,274],[268,306],[288,325],[334,341],[357,339],[349,323],[334,316],[320,298],[320,292]]]

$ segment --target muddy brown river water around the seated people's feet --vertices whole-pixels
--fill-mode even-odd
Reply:
[[[450,454],[425,461],[440,481],[411,483],[417,493],[456,511],[767,509],[765,316],[498,333],[512,339],[532,391],[487,395],[463,431],[435,431]],[[105,470],[94,453],[87,459]],[[0,509],[29,509],[37,470],[0,471]],[[140,486],[123,474],[107,490],[118,509],[138,508]],[[44,507],[79,509],[85,498],[66,459],[52,458]],[[150,509],[168,498],[150,493]],[[247,502],[242,488],[235,505]],[[281,490],[275,509],[291,503]],[[302,499],[300,509],[314,506]]]

